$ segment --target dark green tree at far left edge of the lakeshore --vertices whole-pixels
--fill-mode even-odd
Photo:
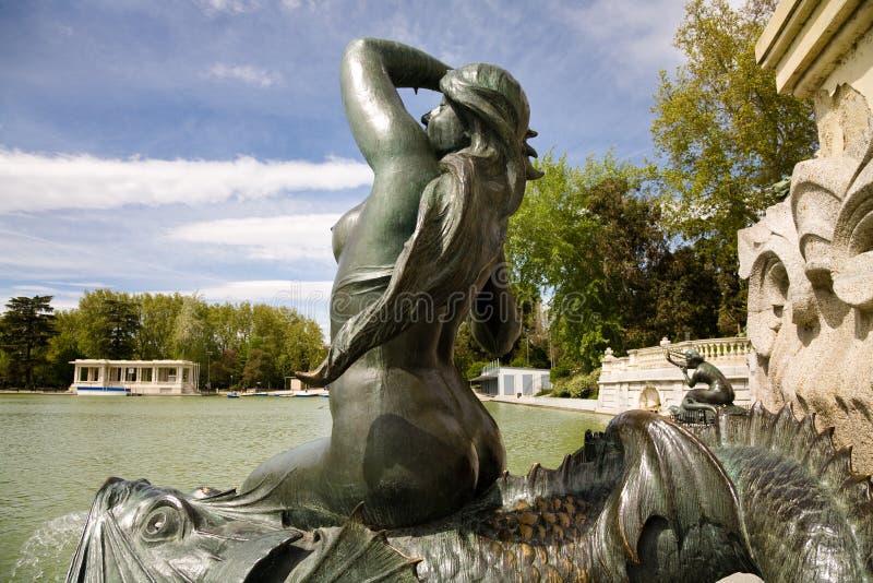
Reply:
[[[51,296],[20,296],[7,302],[0,328],[2,349],[11,357],[12,370],[24,376],[25,389],[34,386],[34,367],[43,359],[37,353],[56,334],[50,302]]]

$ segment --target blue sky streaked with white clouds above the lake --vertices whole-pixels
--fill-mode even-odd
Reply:
[[[681,0],[0,0],[0,299],[266,301],[326,322],[330,227],[369,191],[339,60],[357,37],[525,87],[539,152],[651,156]],[[435,94],[402,94],[418,118]]]

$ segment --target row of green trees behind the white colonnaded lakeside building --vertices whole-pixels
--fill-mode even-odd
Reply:
[[[2,321],[0,321],[1,323]],[[201,386],[242,382],[283,386],[283,377],[314,368],[326,354],[318,323],[287,307],[263,304],[207,305],[180,294],[87,291],[79,308],[60,312],[58,335],[36,370],[44,382],[67,385],[75,358],[180,358],[200,364]],[[207,366],[208,365],[208,366]],[[2,353],[1,382],[20,366]]]

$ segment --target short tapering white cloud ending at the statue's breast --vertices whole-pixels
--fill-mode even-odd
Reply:
[[[175,227],[172,239],[241,247],[251,259],[331,261],[331,227],[337,214],[223,218]]]

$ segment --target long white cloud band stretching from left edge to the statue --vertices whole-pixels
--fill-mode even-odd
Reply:
[[[369,185],[362,163],[163,160],[45,156],[0,150],[0,214],[125,204],[217,203],[264,199],[282,191],[340,190]]]

